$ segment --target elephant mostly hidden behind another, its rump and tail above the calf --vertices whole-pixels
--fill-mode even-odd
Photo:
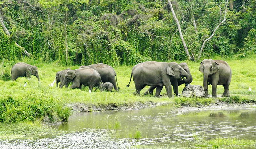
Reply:
[[[119,92],[120,88],[117,83],[116,71],[114,70],[114,68],[112,68],[107,64],[102,64],[102,63],[92,64],[88,66],[81,66],[80,68],[86,68],[86,67],[97,70],[101,76],[102,81],[112,83],[114,85],[114,89]],[[115,77],[116,77],[116,80],[115,80]]]

